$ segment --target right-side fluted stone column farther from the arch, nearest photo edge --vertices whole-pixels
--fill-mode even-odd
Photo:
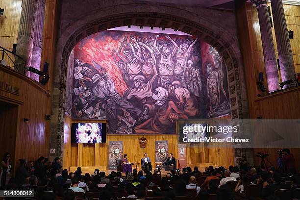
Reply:
[[[282,82],[284,82],[286,80],[293,79],[295,75],[292,49],[285,21],[282,0],[271,0],[271,6],[280,64],[280,74]],[[291,85],[286,85],[283,88],[290,86]]]

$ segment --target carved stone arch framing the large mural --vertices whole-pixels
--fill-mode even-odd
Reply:
[[[126,6],[130,6],[130,4]],[[133,8],[133,10],[139,10],[137,7]],[[108,12],[105,9],[103,12],[94,11],[91,12],[90,15],[82,16],[81,19],[65,27],[56,45],[56,63],[53,77],[53,120],[51,120],[51,136],[53,139],[50,140],[50,148],[56,149],[55,156],[60,157],[62,154],[65,90],[69,55],[81,39],[113,27],[143,25],[174,28],[194,35],[200,40],[210,44],[220,53],[225,62],[232,120],[238,120],[238,118],[243,118],[245,113],[247,114],[247,100],[246,98],[242,98],[241,94],[242,88],[244,88],[245,85],[240,81],[241,77],[243,79],[244,74],[237,37],[232,36],[230,31],[226,31],[224,27],[210,21],[207,17],[195,16],[195,14],[183,10],[180,10],[180,16],[184,17],[180,17],[179,14],[174,14],[178,13],[178,8],[171,8],[171,10],[168,10],[169,13],[164,8],[159,8],[156,7],[156,9],[153,9],[153,7],[150,7],[148,8],[149,12],[129,13],[117,13],[118,10],[122,10],[121,8],[113,11],[113,13],[111,13],[111,10]],[[132,11],[132,9],[130,11]],[[52,156],[54,156],[54,154],[50,154],[50,157]]]

